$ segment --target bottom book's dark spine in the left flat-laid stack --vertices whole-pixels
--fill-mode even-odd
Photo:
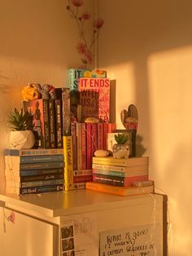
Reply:
[[[39,186],[32,188],[20,188],[20,195],[25,194],[37,194],[43,192],[59,192],[63,190],[63,185],[49,185],[49,186]]]

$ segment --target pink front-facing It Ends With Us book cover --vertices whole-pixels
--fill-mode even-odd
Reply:
[[[82,121],[87,117],[108,122],[110,119],[110,80],[108,78],[79,78]]]

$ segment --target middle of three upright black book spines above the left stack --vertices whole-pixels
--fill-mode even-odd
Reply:
[[[56,148],[55,99],[49,99],[50,148]]]

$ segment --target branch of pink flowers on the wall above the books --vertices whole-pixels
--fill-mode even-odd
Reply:
[[[93,63],[93,46],[98,40],[100,29],[103,27],[104,20],[97,18],[93,22],[93,35],[90,42],[85,37],[85,24],[91,20],[91,14],[88,11],[80,13],[80,7],[84,5],[83,0],[68,0],[67,10],[71,13],[72,18],[76,21],[79,30],[80,42],[77,44],[77,51],[81,55],[82,68],[88,68]]]

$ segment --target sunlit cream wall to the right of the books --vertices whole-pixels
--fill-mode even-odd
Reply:
[[[168,194],[169,255],[192,250],[191,1],[99,0],[100,68],[116,79],[116,121],[136,104],[156,192]],[[158,255],[160,256],[160,255]]]

